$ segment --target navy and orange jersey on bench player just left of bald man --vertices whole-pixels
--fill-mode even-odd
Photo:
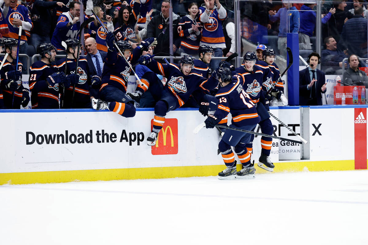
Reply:
[[[56,62],[57,67],[60,72],[65,72],[65,59],[60,59]],[[67,72],[69,75],[71,73],[75,73],[75,66],[77,62],[75,59],[69,59],[67,62]],[[78,61],[77,74],[79,75],[79,82],[75,84],[75,93],[74,93],[74,105],[72,108],[82,108],[84,105],[88,104],[91,101],[89,90],[89,85],[91,84],[92,74],[89,72],[87,60],[84,57],[80,57]],[[64,94],[64,105],[71,105],[73,96],[73,86],[66,88]],[[67,103],[70,102],[70,103]],[[68,108],[68,107],[64,107]]]

